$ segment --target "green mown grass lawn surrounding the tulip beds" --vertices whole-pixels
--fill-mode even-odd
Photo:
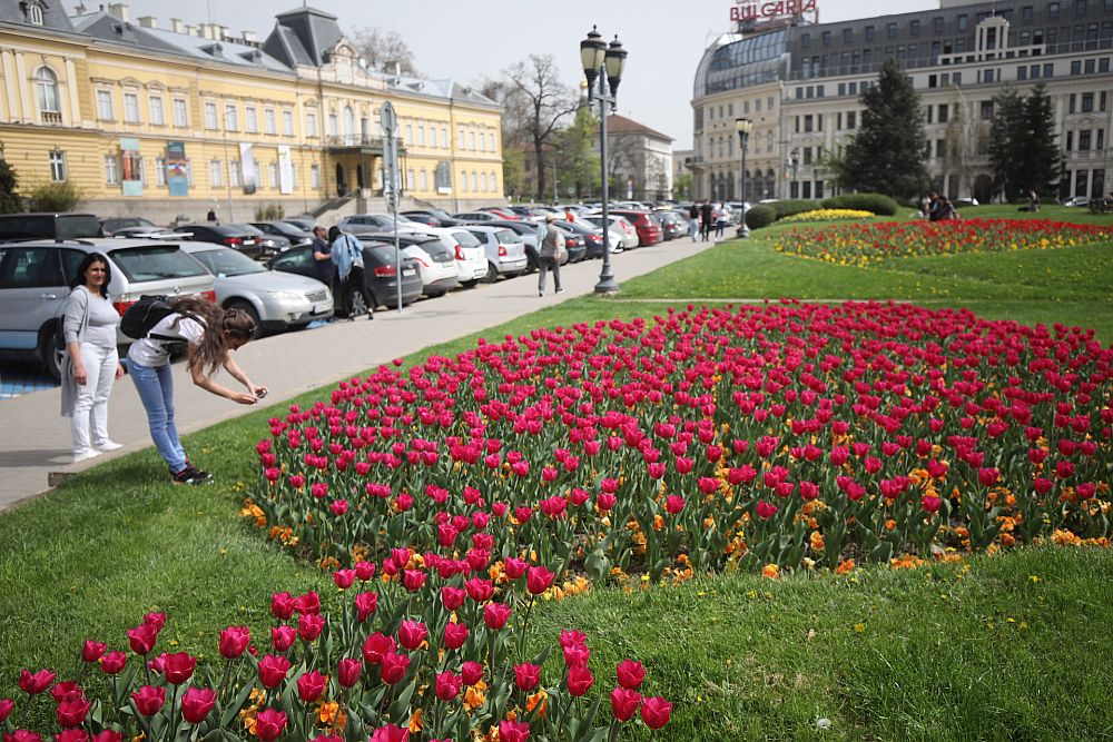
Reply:
[[[664,304],[644,301],[657,298],[899,298],[1096,326],[1113,338],[1109,245],[866,270],[782,256],[768,244],[757,233],[631,280],[623,299],[575,299],[421,357],[453,355],[480,336],[663,314]],[[213,653],[229,624],[264,635],[272,592],[316,588],[326,604],[335,600],[327,575],[237,515],[256,476],[254,443],[287,404],[187,437],[190,454],[219,473],[214,486],[166,484],[147,449],[0,516],[0,698],[17,698],[20,667],[76,676],[85,639],[121,647],[147,611],[170,616],[166,651]],[[677,704],[658,735],[666,740],[1092,740],[1113,738],[1111,604],[1113,553],[1028,548],[914,572],[779,582],[728,574],[633,594],[595,591],[544,604],[534,635],[588,634],[604,692],[619,660],[646,662],[648,691]],[[819,719],[830,728],[820,732]]]

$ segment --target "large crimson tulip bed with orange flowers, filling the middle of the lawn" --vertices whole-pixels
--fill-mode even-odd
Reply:
[[[445,550],[500,581],[523,560],[558,597],[1104,544],[1111,362],[1077,328],[907,305],[538,329],[272,419],[245,514],[326,566]]]

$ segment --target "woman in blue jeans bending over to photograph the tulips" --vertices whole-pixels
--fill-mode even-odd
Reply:
[[[131,344],[128,368],[147,410],[151,441],[170,469],[170,479],[175,484],[205,484],[211,475],[189,463],[178,439],[170,346],[175,342],[186,343],[186,365],[194,384],[238,404],[254,405],[266,396],[267,387],[254,384],[228,354],[247,345],[255,337],[256,326],[242,309],[225,310],[191,296],[174,299],[170,308],[174,311],[160,319],[147,337]],[[213,374],[218,367],[224,367],[247,390],[235,392],[214,382]]]

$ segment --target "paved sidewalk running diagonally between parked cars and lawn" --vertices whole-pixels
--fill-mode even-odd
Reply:
[[[613,256],[615,279],[624,280],[700,253],[715,243],[686,237]],[[250,343],[236,363],[252,380],[269,388],[266,405],[334,384],[422,348],[500,325],[520,315],[590,294],[599,260],[561,268],[565,293],[538,296],[536,276],[480,285],[423,300],[402,310],[382,311],[373,321],[339,321],[309,333],[285,333]],[[621,295],[620,295],[621,296]],[[208,394],[190,382],[185,364],[174,364],[178,431],[183,435],[253,409]],[[223,383],[237,386],[221,373]],[[147,417],[131,380],[120,379],[109,403],[109,433],[124,448],[82,464],[71,463],[69,418],[61,417],[59,389],[0,403],[0,512],[49,491],[48,475],[88,468],[108,458],[151,447]],[[151,453],[151,456],[156,454]]]

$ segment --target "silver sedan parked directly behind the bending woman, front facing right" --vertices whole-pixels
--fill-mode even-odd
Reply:
[[[230,247],[184,243],[181,249],[213,274],[217,304],[246,311],[264,332],[333,316],[333,293],[319,280],[267,270]]]

